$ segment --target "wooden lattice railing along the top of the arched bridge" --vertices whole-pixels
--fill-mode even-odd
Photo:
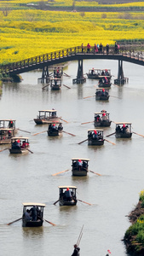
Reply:
[[[26,60],[22,61],[16,61],[14,63],[9,63],[7,65],[2,65],[0,66],[0,73],[13,73],[15,70],[18,71],[20,70],[22,73],[22,70],[26,67],[32,67],[38,64],[42,63],[50,63],[53,60],[59,60],[63,59],[65,61],[65,58],[67,56],[71,55],[96,55],[96,54],[101,54],[101,55],[126,55],[129,56],[130,58],[135,58],[137,60],[144,60],[144,53],[142,51],[135,51],[134,49],[129,49],[126,46],[120,47],[120,49],[116,50],[114,47],[109,47],[108,52],[106,47],[103,47],[103,49],[98,52],[95,52],[95,48],[91,47],[88,49],[86,46],[84,46],[84,50],[82,51],[81,46],[76,46],[68,49],[60,49],[54,52],[50,52],[44,55],[37,55],[32,58],[28,58]]]

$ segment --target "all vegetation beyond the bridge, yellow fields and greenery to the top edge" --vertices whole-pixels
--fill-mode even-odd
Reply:
[[[124,1],[107,1],[116,4],[101,4],[106,0],[101,3],[92,0],[1,1],[0,65],[82,43],[91,46],[112,46],[115,41],[143,43],[144,2]],[[78,6],[96,8],[98,12],[78,11]],[[116,6],[117,11],[113,12]],[[72,11],[64,10],[67,7]],[[100,7],[109,11],[102,12]],[[48,8],[61,8],[61,11]]]

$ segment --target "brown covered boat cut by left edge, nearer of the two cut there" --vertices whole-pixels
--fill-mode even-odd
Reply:
[[[0,128],[0,144],[10,144],[11,137],[14,137],[14,129]]]

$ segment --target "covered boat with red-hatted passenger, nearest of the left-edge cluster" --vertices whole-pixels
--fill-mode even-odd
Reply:
[[[28,137],[12,137],[10,154],[25,154],[29,150]]]

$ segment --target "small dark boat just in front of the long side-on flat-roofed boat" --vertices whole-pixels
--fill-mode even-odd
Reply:
[[[48,136],[59,136],[62,134],[62,130],[61,122],[49,122]]]

